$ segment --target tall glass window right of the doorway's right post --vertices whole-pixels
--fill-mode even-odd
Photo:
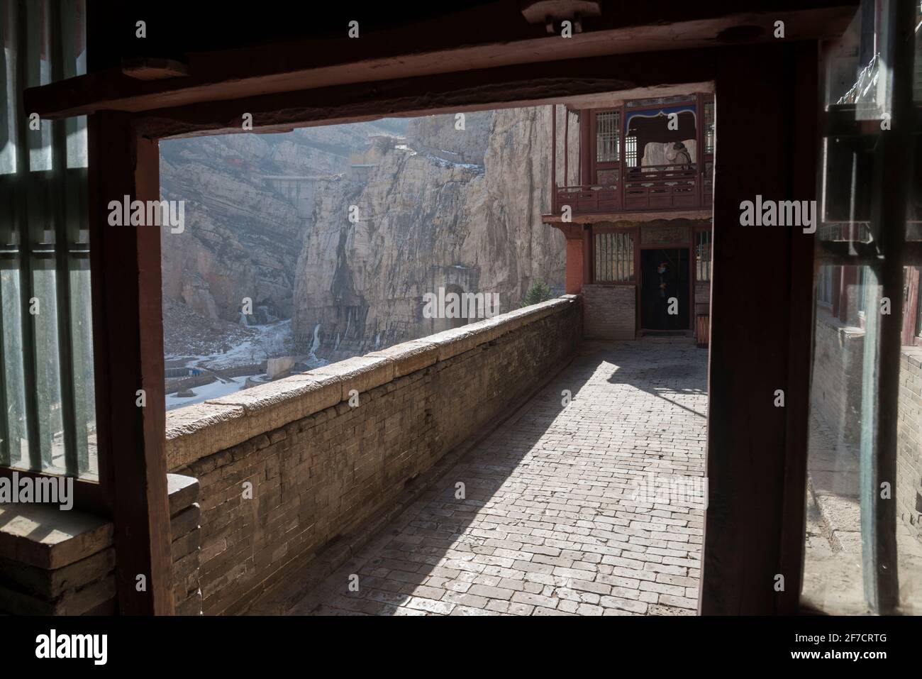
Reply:
[[[905,346],[912,326],[892,311],[901,300],[907,313],[918,303],[907,270],[879,247],[892,236],[876,221],[900,212],[888,203],[892,185],[878,181],[892,84],[905,87],[912,76],[892,56],[887,63],[896,54],[886,30],[896,9],[865,0],[845,36],[822,48],[828,114],[802,602],[823,613],[922,613],[922,348]],[[916,41],[920,16],[916,10]],[[918,182],[904,175],[916,201]],[[912,238],[913,204],[907,214]],[[904,285],[884,289],[894,268]],[[894,329],[904,346],[893,346]]]

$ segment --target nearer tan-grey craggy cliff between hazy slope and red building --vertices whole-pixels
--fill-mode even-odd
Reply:
[[[426,318],[423,295],[498,293],[517,307],[536,280],[562,292],[550,205],[550,108],[417,118],[367,178],[316,192],[295,277],[297,344],[339,359],[464,321]],[[349,206],[359,219],[349,220]],[[331,284],[332,281],[332,284]]]

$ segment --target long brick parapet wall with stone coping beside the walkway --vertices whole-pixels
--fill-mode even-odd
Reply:
[[[242,611],[380,515],[561,368],[581,321],[565,295],[170,411],[171,469],[200,484],[204,612]]]

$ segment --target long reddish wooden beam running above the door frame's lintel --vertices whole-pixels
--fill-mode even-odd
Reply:
[[[509,3],[504,5],[508,13]],[[194,44],[172,44],[173,52],[189,52],[189,77],[144,81],[110,67],[28,89],[26,106],[45,118],[102,110],[139,113],[487,67],[714,47],[733,42],[741,28],[751,42],[774,42],[778,20],[785,22],[786,41],[812,40],[841,33],[855,12],[853,0],[776,0],[773,8],[762,3],[752,11],[740,11],[739,3],[731,2],[685,5],[624,6],[587,19],[585,32],[571,39],[548,35],[521,17],[517,22],[498,20],[502,9],[487,6],[361,40],[349,40],[343,28],[337,39],[214,52],[195,53]],[[112,21],[116,19],[121,24],[113,26],[112,33],[121,34],[124,18]],[[214,29],[210,22],[201,27],[203,32]]]

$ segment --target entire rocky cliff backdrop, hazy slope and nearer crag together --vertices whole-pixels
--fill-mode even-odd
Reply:
[[[177,305],[237,323],[249,297],[250,322],[290,317],[299,351],[337,360],[453,325],[423,317],[439,288],[501,311],[536,280],[562,292],[549,137],[538,107],[162,142],[163,197],[187,201],[163,235],[168,335]]]

